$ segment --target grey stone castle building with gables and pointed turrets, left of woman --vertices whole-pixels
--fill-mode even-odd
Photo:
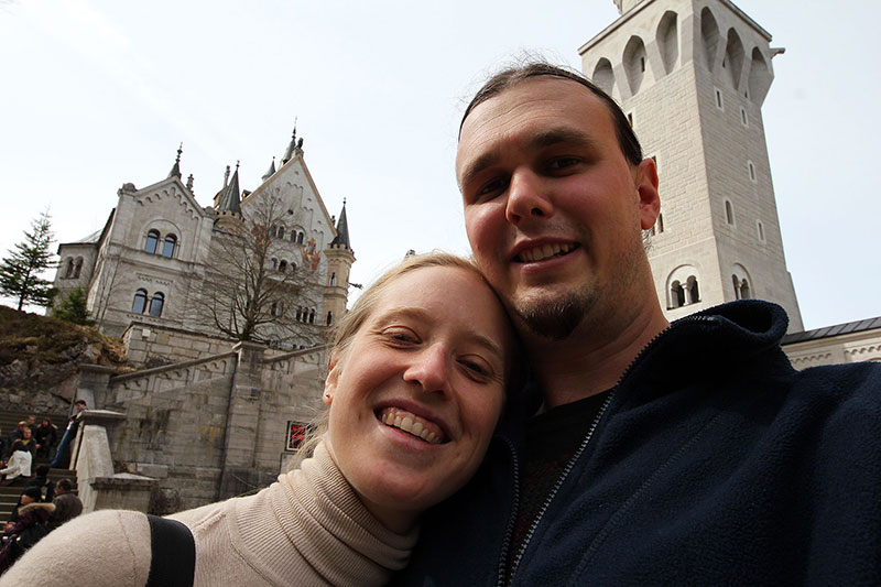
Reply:
[[[346,311],[355,256],[345,203],[335,227],[302,145],[294,130],[280,167],[273,157],[253,192],[240,189],[238,165],[231,177],[227,167],[209,207],[196,202],[192,175],[182,182],[178,149],[167,177],[140,189],[124,184],[100,231],[58,247],[57,298],[81,287],[91,316],[112,336],[137,323],[281,349],[325,343]],[[257,238],[255,227],[271,242]],[[248,282],[258,278],[262,290],[254,292]],[[239,331],[242,311],[232,303],[241,296],[260,304],[251,333]]]

